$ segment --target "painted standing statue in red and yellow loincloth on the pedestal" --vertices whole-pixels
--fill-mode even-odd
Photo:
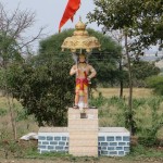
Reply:
[[[75,88],[75,104],[74,109],[82,108],[88,109],[88,86],[90,79],[96,76],[96,70],[86,62],[86,55],[79,54],[78,62],[72,66],[70,75],[76,75],[76,88]]]

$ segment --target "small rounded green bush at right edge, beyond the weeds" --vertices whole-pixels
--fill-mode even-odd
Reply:
[[[147,78],[147,86],[153,88],[154,93],[163,96],[163,76],[151,76]]]

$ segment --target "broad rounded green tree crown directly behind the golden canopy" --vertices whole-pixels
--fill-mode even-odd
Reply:
[[[92,79],[91,86],[95,87],[96,84],[109,85],[115,83],[115,80],[118,80],[118,74],[121,74],[117,71],[121,47],[109,36],[103,36],[100,32],[96,32],[91,28],[88,28],[87,30],[90,36],[97,37],[101,43],[101,51],[96,49],[92,51],[92,54],[88,57],[89,64],[96,68],[98,74],[96,79]],[[51,60],[52,58],[59,58],[61,60],[63,60],[63,58],[68,58],[71,61],[70,64],[73,64],[71,52],[61,52],[63,40],[66,37],[71,37],[73,32],[74,29],[66,29],[41,40],[38,55],[39,59],[37,59],[39,60],[38,62],[41,63]]]

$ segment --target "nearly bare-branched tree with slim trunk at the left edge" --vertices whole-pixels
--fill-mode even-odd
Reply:
[[[1,90],[4,91],[8,98],[8,106],[11,115],[11,124],[14,138],[16,139],[16,122],[13,109],[13,95],[8,86],[8,67],[14,62],[24,62],[23,55],[28,46],[40,37],[42,28],[34,38],[27,39],[23,34],[33,26],[35,14],[30,11],[21,11],[17,7],[13,11],[7,11],[0,3],[0,74],[1,74]]]

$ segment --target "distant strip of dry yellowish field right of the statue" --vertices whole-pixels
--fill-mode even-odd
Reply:
[[[118,97],[120,96],[120,88],[98,88],[98,91],[95,91],[93,95],[97,97],[99,92],[102,92],[102,96],[105,98],[111,97]],[[127,98],[129,95],[129,89],[124,88],[123,97]],[[133,97],[134,98],[149,98],[153,96],[152,89],[148,88],[134,88],[133,89]]]

